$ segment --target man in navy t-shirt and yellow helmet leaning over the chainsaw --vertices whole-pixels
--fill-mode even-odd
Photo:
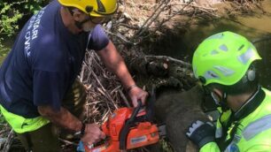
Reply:
[[[76,104],[82,107],[85,102],[85,90],[76,77],[86,49],[96,50],[106,67],[119,77],[134,106],[137,100],[144,103],[147,93],[136,87],[99,25],[117,8],[117,0],[55,0],[20,31],[0,68],[0,110],[27,150],[59,151],[51,124],[80,134],[86,145],[105,138],[98,125],[82,123],[63,103],[80,100]]]

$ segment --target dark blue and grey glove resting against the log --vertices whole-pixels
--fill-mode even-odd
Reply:
[[[206,143],[214,141],[215,127],[211,122],[197,120],[190,125],[186,133],[190,141],[193,141],[198,148],[202,148]]]

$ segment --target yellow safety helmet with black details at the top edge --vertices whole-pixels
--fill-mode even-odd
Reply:
[[[64,6],[72,6],[93,17],[104,17],[118,10],[117,0],[58,0]]]

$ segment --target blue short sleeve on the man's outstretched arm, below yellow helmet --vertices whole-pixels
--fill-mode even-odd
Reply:
[[[94,27],[90,33],[88,49],[101,50],[104,49],[109,42],[107,34],[101,25]]]

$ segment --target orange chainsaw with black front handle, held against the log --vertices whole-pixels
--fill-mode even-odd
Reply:
[[[166,126],[153,124],[153,112],[141,110],[141,107],[142,102],[139,101],[136,108],[115,110],[102,125],[102,131],[108,138],[99,146],[85,145],[85,152],[120,152],[158,142],[166,135]]]

